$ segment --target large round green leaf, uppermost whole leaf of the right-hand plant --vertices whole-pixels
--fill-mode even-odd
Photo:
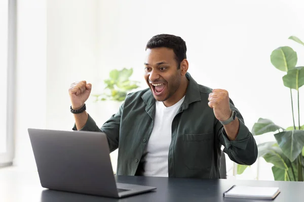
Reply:
[[[271,63],[279,70],[287,72],[297,63],[297,54],[289,46],[278,47],[270,56]]]

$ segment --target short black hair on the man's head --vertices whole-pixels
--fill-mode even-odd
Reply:
[[[153,36],[146,45],[145,49],[152,49],[157,47],[167,47],[173,49],[175,60],[177,62],[177,69],[180,68],[180,63],[186,59],[186,42],[179,36],[171,34],[159,34]]]

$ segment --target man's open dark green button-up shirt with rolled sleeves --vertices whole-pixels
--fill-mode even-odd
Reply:
[[[172,138],[168,155],[169,177],[220,178],[220,157],[223,151],[229,158],[244,165],[257,159],[256,142],[244,124],[238,109],[230,99],[230,107],[237,112],[240,128],[237,138],[230,141],[222,124],[208,106],[211,88],[199,85],[189,73],[184,102],[172,121]],[[101,128],[90,117],[81,130],[104,132],[110,151],[119,148],[117,175],[142,173],[145,146],[153,129],[155,98],[149,88],[127,95],[118,113]],[[73,130],[76,130],[75,126]],[[160,139],[160,141],[162,141]]]

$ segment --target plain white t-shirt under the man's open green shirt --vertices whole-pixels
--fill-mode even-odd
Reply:
[[[143,156],[143,175],[168,177],[168,155],[172,136],[172,121],[185,97],[166,107],[156,101],[154,126]]]

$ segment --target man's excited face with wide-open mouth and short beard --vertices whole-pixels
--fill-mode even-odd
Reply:
[[[164,102],[180,85],[181,73],[177,69],[175,54],[166,47],[146,50],[144,78],[156,100]]]

